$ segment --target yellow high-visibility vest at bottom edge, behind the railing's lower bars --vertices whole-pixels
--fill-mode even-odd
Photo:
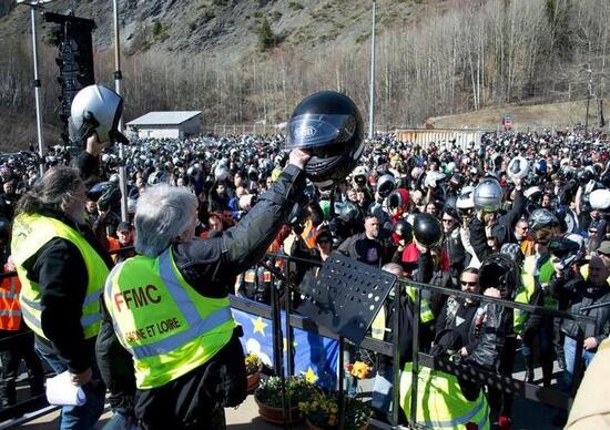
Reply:
[[[400,376],[400,406],[410,420],[413,364],[407,362]],[[461,393],[454,375],[419,367],[417,373],[417,423],[430,429],[466,429],[472,422],[489,429],[489,405],[482,390],[475,401]]]

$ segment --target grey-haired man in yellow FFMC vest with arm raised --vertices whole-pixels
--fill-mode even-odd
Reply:
[[[272,188],[236,226],[213,238],[194,237],[197,201],[187,188],[157,185],[139,198],[139,255],[108,277],[102,330],[113,328],[132,356],[142,429],[223,428],[224,407],[245,399],[242,331],[227,286],[264,255],[286,222],[303,195],[308,158],[293,150]],[[121,354],[115,349],[112,338],[98,342],[104,361]]]

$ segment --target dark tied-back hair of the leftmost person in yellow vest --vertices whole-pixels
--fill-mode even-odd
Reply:
[[[17,213],[33,214],[44,208],[65,212],[83,185],[77,168],[49,168],[28,193],[19,199]]]

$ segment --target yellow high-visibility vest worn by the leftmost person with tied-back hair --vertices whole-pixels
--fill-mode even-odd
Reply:
[[[38,336],[47,339],[40,321],[42,314],[40,286],[28,278],[28,272],[23,268],[23,264],[54,237],[69,240],[81,253],[88,274],[81,326],[85,339],[98,336],[102,319],[100,296],[109,268],[102,257],[79,232],[59,219],[38,214],[18,215],[12,227],[11,249],[19,280],[21,281],[19,303],[23,321]]]

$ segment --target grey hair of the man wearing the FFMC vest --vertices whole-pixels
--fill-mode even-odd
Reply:
[[[197,197],[187,188],[169,185],[148,187],[135,209],[135,250],[156,257],[193,222]]]

